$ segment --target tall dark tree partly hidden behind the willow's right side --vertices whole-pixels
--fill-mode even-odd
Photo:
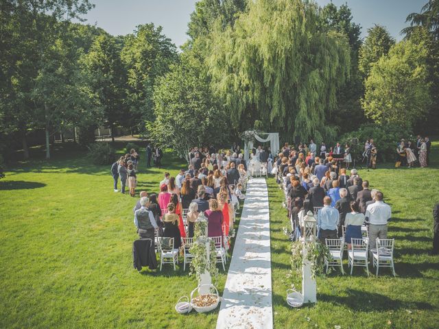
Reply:
[[[328,118],[329,123],[340,127],[340,132],[353,130],[364,121],[364,111],[360,99],[364,95],[363,82],[358,70],[358,51],[361,47],[361,27],[353,23],[351,8],[333,3],[325,5],[321,10],[323,25],[336,32],[345,34],[351,47],[350,76],[346,84],[337,90],[337,109]],[[346,117],[355,120],[346,120]]]

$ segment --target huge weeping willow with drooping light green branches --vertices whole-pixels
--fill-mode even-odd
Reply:
[[[346,36],[319,15],[313,1],[255,0],[233,27],[211,33],[206,61],[237,129],[259,120],[302,141],[333,135],[325,118],[351,58]]]

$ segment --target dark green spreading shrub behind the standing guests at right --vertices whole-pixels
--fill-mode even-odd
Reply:
[[[358,130],[344,134],[340,140],[342,143],[351,145],[353,157],[361,159],[364,152],[364,143],[372,138],[377,145],[378,158],[381,161],[393,161],[396,156],[396,146],[401,138],[405,141],[414,141],[414,136],[410,130],[401,125],[385,124],[377,125],[368,123],[361,125]]]

